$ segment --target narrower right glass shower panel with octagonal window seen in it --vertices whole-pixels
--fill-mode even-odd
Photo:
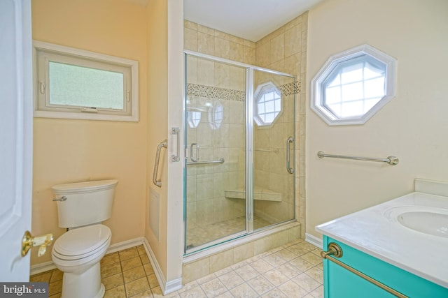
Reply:
[[[295,218],[295,78],[253,73],[253,229]]]

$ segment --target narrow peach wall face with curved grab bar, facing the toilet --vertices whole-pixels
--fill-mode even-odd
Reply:
[[[148,1],[148,178],[153,177],[155,152],[159,142],[167,139],[168,131],[168,11],[167,1]],[[160,237],[156,237],[157,231],[146,228],[146,239],[158,260],[164,275],[167,274],[167,150],[161,150],[159,164],[159,179],[162,187],[158,188],[151,182],[147,182],[147,188],[152,189],[160,196],[160,209],[156,210],[155,204],[150,205],[151,198],[147,193],[148,216],[159,212]],[[157,214],[157,213],[156,213]],[[149,227],[146,218],[146,227]]]

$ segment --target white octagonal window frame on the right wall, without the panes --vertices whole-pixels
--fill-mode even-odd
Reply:
[[[367,59],[373,59],[378,64],[385,66],[384,77],[384,96],[365,114],[351,117],[338,117],[332,112],[325,103],[324,83],[328,82],[328,77],[331,77],[334,70],[346,61],[352,61],[366,56]],[[367,59],[363,60],[366,61]],[[364,82],[364,81],[363,81]],[[332,55],[323,64],[321,69],[316,73],[313,80],[311,80],[311,110],[314,110],[319,117],[321,117],[328,125],[356,125],[365,124],[374,114],[381,110],[392,98],[395,97],[395,82],[396,82],[396,59],[381,52],[370,45],[360,45],[346,50],[339,54]]]

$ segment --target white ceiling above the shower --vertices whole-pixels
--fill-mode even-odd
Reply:
[[[184,18],[253,42],[323,0],[184,0]]]

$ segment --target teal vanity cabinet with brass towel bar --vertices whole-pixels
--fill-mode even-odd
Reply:
[[[324,258],[325,298],[448,297],[448,288],[325,235],[323,236],[323,248],[326,251],[321,254]],[[340,253],[342,255],[339,256]],[[431,251],[429,250],[427,253],[431,253]],[[440,255],[440,258],[447,258],[447,256]],[[351,268],[344,268],[344,265]],[[448,275],[448,268],[446,268],[446,272]],[[384,290],[384,288],[388,288],[388,290]]]

